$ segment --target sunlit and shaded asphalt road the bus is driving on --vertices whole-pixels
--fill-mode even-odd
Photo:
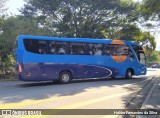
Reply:
[[[129,80],[77,80],[73,81],[70,84],[23,81],[0,82],[0,109],[139,108],[142,105],[145,97],[147,96],[147,93],[149,92],[150,88],[152,87],[154,83],[154,78],[156,76],[159,76],[159,73],[160,70],[149,69],[146,76],[134,77],[134,79]],[[80,112],[80,114],[83,114],[83,112]],[[93,113],[91,114],[91,116],[97,118],[118,116],[95,114],[96,113]],[[73,115],[71,116],[73,117]],[[89,116],[90,115],[88,115],[88,117]],[[64,116],[58,115],[57,117]],[[83,115],[79,117],[83,117]]]

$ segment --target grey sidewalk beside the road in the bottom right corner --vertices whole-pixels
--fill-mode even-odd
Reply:
[[[160,112],[160,77],[155,78],[154,85],[143,102],[141,109],[157,109]],[[160,118],[160,115],[137,115],[136,118]]]

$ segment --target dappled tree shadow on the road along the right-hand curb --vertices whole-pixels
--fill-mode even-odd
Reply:
[[[141,89],[138,90],[133,97],[130,98],[129,97],[130,95],[123,97],[123,102],[126,105],[126,107],[124,108],[124,111],[135,110],[135,112],[141,112],[140,109],[141,109],[143,102],[145,101],[147,95],[149,94],[149,92],[154,84],[154,79],[155,79],[155,77],[153,76],[151,79],[144,81],[143,84],[140,85]],[[138,84],[136,84],[136,85],[138,85]],[[130,87],[130,88],[127,87],[126,89],[128,89],[129,91],[134,91],[134,86]],[[152,107],[154,108],[154,106],[152,106]],[[148,112],[149,112],[149,110],[148,110]],[[144,111],[142,113],[144,113]],[[122,118],[136,118],[136,115],[138,115],[138,114],[121,115],[121,117]],[[144,117],[145,118],[152,118],[150,115],[149,116],[145,115]],[[141,117],[141,115],[140,115],[140,118],[144,118],[144,117]]]

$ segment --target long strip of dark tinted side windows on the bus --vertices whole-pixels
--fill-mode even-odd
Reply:
[[[104,45],[52,40],[24,39],[27,51],[37,54],[128,55],[127,45]]]

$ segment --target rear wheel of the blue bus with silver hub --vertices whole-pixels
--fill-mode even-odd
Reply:
[[[72,75],[68,71],[63,71],[59,75],[59,82],[61,84],[68,84],[72,80]]]

